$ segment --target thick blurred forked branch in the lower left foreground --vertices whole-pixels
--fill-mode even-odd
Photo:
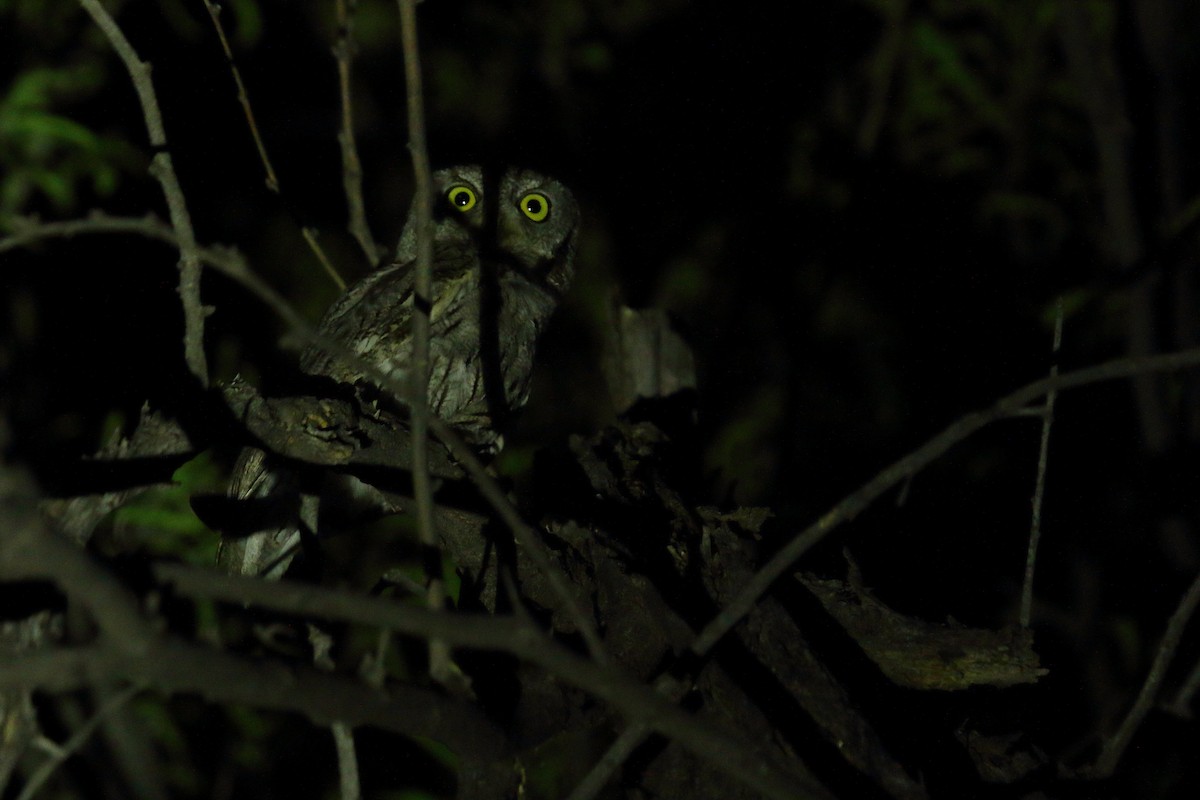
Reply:
[[[472,760],[505,752],[503,734],[478,709],[432,690],[397,685],[382,694],[341,675],[254,664],[160,632],[136,596],[46,523],[32,479],[13,467],[0,464],[0,578],[53,581],[101,632],[90,645],[7,654],[0,658],[0,691],[62,692],[131,680],[215,702],[304,711],[322,724],[344,721],[427,735]]]

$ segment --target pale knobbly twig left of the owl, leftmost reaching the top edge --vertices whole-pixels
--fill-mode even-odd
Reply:
[[[184,190],[175,175],[175,167],[167,151],[167,132],[158,110],[158,98],[150,79],[150,65],[138,58],[133,46],[116,25],[100,0],[79,0],[84,10],[96,22],[96,25],[108,38],[116,55],[125,64],[133,82],[145,118],[146,133],[155,156],[150,162],[150,174],[162,186],[170,213],[170,224],[179,236],[179,299],[184,306],[184,357],[187,368],[202,386],[209,385],[209,366],[204,356],[204,318],[208,309],[200,302],[200,259],[197,253],[196,233],[192,229],[192,217],[187,212]]]

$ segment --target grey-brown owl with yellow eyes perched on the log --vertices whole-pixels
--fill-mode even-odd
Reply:
[[[526,169],[455,167],[434,173],[433,187],[426,397],[432,414],[492,451],[508,416],[529,397],[538,337],[570,285],[580,210],[565,186]],[[404,384],[412,378],[415,261],[414,209],[396,258],[350,287],[319,329]],[[319,348],[308,349],[300,367],[378,396],[359,365]],[[302,492],[296,476],[260,450],[239,458],[229,494],[276,500],[294,522],[226,539],[221,565],[241,575],[282,575],[300,530],[317,533],[319,497]]]

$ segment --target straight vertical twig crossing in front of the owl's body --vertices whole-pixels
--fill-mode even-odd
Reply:
[[[408,405],[413,423],[413,495],[416,500],[416,530],[425,555],[425,578],[428,582],[426,602],[430,608],[445,608],[445,587],[442,581],[442,551],[438,547],[437,525],[433,521],[433,481],[430,477],[430,311],[433,308],[433,176],[430,151],[425,143],[425,100],[421,91],[421,60],[416,46],[416,0],[400,4],[400,35],[404,50],[404,88],[408,94],[408,150],[413,157],[416,197],[416,264],[413,276],[413,357],[412,391]],[[440,639],[430,640],[430,673],[442,682],[450,680],[456,669],[450,658],[450,645]]]

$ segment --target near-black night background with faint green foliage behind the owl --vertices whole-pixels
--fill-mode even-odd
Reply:
[[[332,4],[223,16],[282,197],[203,5],[109,5],[154,65],[202,243],[238,247],[319,319],[336,289],[299,224],[348,278],[368,267],[344,233]],[[515,447],[611,419],[596,363],[614,295],[670,309],[695,347],[707,501],[770,506],[785,529],[1044,375],[1058,299],[1064,369],[1194,347],[1196,10],[1070,5],[422,4],[434,163],[534,167],[584,210]],[[90,19],[70,2],[0,14],[0,212],[164,217],[130,82]],[[390,247],[412,197],[395,5],[360,2],[355,28],[368,217]],[[48,491],[70,491],[70,464],[143,402],[187,402],[175,260],[124,236],[0,254],[0,410]],[[286,384],[270,312],[214,273],[204,299],[215,378]],[[1111,728],[1200,569],[1194,389],[1171,375],[1142,405],[1129,383],[1060,398],[1036,615],[1051,676],[1018,696],[1051,750]],[[959,445],[808,566],[838,571],[848,547],[905,610],[1012,622],[1039,427]],[[1130,756],[1139,793],[1139,776],[1160,796],[1195,777],[1172,757],[1194,730],[1164,720]]]

